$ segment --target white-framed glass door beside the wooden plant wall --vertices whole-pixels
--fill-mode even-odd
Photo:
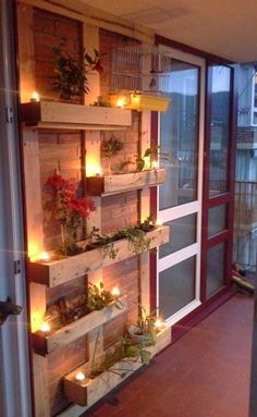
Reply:
[[[173,164],[158,192],[158,220],[170,226],[159,248],[157,304],[169,324],[200,305],[200,235],[205,61],[171,50],[170,105],[159,120],[159,145]]]

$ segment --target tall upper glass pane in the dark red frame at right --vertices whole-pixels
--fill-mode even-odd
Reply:
[[[211,66],[208,75],[211,83],[209,195],[212,196],[227,192],[231,70]]]

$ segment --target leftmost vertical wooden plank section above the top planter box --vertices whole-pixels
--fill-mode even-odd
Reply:
[[[17,2],[17,48],[21,102],[29,101],[35,90],[33,8]],[[24,30],[26,28],[26,30]]]

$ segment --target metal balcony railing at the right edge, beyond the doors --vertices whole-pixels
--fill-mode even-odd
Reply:
[[[235,182],[233,258],[244,268],[256,270],[257,182]]]

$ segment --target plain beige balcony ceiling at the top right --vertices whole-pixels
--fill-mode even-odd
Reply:
[[[83,0],[234,62],[257,61],[257,0]]]

